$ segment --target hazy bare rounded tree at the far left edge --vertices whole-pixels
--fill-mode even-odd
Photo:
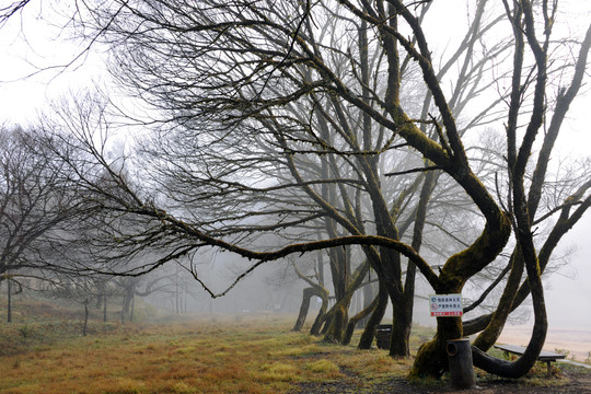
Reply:
[[[21,278],[50,281],[61,268],[42,258],[78,213],[73,188],[61,182],[59,165],[33,131],[0,129],[0,282],[8,280],[9,303]],[[8,311],[10,322],[10,305]]]

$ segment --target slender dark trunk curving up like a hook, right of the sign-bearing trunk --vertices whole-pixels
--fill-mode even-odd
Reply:
[[[535,215],[536,201],[540,200],[537,197],[533,196],[532,200],[528,200],[525,195],[524,178],[528,167],[528,162],[532,153],[532,147],[534,144],[535,138],[538,134],[538,130],[544,124],[544,118],[546,116],[546,83],[547,83],[547,57],[546,51],[541,50],[540,43],[532,39],[534,33],[534,23],[533,23],[533,11],[531,4],[524,4],[520,12],[522,12],[522,18],[524,24],[521,24],[521,15],[513,21],[513,31],[515,35],[515,54],[513,62],[517,67],[515,70],[520,70],[520,66],[523,65],[523,47],[524,47],[524,36],[528,36],[526,43],[532,49],[532,54],[535,59],[535,66],[537,68],[535,91],[533,95],[533,108],[531,113],[530,123],[524,134],[523,142],[519,150],[517,149],[517,123],[518,115],[517,113],[521,108],[522,97],[520,91],[522,89],[520,77],[521,74],[515,72],[513,74],[512,82],[512,95],[510,101],[510,112],[508,118],[507,130],[507,141],[508,141],[508,155],[507,162],[510,170],[509,175],[511,176],[511,194],[513,199],[513,225],[515,232],[515,240],[518,243],[519,252],[523,257],[525,263],[525,268],[528,270],[528,282],[532,292],[533,309],[535,314],[534,328],[532,332],[532,338],[530,344],[525,348],[524,354],[515,361],[508,362],[505,360],[498,360],[488,355],[484,354],[480,350],[473,351],[474,364],[489,371],[495,374],[510,378],[520,378],[528,373],[528,371],[533,367],[544,341],[546,339],[547,331],[547,317],[546,317],[546,305],[544,302],[544,288],[542,286],[542,274],[540,262],[537,258],[537,253],[535,251],[533,242],[533,232],[532,232],[532,220]],[[546,23],[549,22],[546,20]],[[525,30],[523,30],[523,25]],[[551,27],[548,27],[547,36],[549,37]],[[587,49],[584,57],[587,57],[587,51],[591,46],[591,27],[588,31],[588,36],[586,38]],[[582,49],[582,48],[581,48]],[[580,59],[579,59],[580,60]],[[583,67],[584,68],[584,67]],[[552,119],[554,120],[554,119]],[[552,128],[552,123],[551,123]],[[556,129],[556,132],[558,129]],[[546,132],[546,130],[545,130]],[[546,142],[546,141],[544,141]],[[548,151],[549,154],[549,151]],[[545,165],[545,163],[540,163]],[[537,172],[537,171],[536,171]],[[540,177],[542,182],[544,177]]]

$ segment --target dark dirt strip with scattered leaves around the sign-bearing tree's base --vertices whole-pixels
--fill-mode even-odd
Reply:
[[[301,383],[290,394],[315,393],[368,393],[368,394],[591,394],[591,373],[582,370],[561,372],[547,381],[536,379],[535,382],[522,378],[478,379],[472,390],[454,390],[449,383],[414,384],[404,379],[389,379],[379,382],[360,382],[355,378],[337,382]]]

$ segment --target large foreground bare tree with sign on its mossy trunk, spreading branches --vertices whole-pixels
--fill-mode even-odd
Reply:
[[[102,208],[92,218],[94,231],[85,246],[108,250],[97,255],[115,262],[148,256],[146,264],[125,271],[140,275],[211,245],[256,260],[237,282],[260,264],[291,253],[357,244],[395,302],[395,329],[404,332],[415,267],[437,293],[460,293],[501,255],[513,233],[514,270],[508,283],[519,285],[520,269],[525,269],[536,318],[532,341],[513,363],[499,366],[484,357],[476,362],[496,373],[524,374],[542,349],[547,326],[541,265],[590,201],[584,179],[560,206],[538,209],[554,142],[582,84],[591,30],[582,42],[552,40],[556,2],[503,1],[496,18],[490,15],[499,10],[487,14],[487,7],[485,0],[477,2],[468,33],[443,62],[422,23],[430,11],[427,1],[154,0],[89,7],[86,22],[96,23],[95,38],[112,45],[119,83],[158,111],[142,120],[159,131],[159,143],[148,164],[124,166],[120,159],[107,159],[104,143],[92,143],[96,137],[91,131],[105,123],[62,118],[74,138],[61,135],[66,148],[57,151],[77,169],[71,181]],[[511,34],[487,39],[499,23],[511,26]],[[578,55],[565,56],[563,48]],[[368,63],[374,65],[371,79]],[[447,74],[451,68],[459,73]],[[406,84],[414,76],[420,89]],[[555,96],[551,77],[560,81]],[[503,80],[508,88],[499,92],[497,82]],[[418,111],[412,95],[405,95],[416,91],[425,97]],[[507,188],[478,175],[468,154],[474,142],[465,134],[500,116],[507,139],[500,181]],[[538,152],[536,141],[542,142]],[[439,270],[419,251],[426,205],[407,211],[413,219],[406,223],[414,223],[415,232],[403,239],[404,219],[395,210],[401,206],[382,194],[389,173],[383,166],[392,164],[383,158],[390,151],[404,153],[409,164],[392,176],[417,174],[414,186],[395,192],[395,201],[416,201],[405,197],[421,185],[419,201],[430,199],[436,171],[472,200],[480,233],[463,240],[464,247],[450,253]],[[312,160],[299,160],[304,155]],[[305,163],[315,169],[304,175]],[[529,166],[535,169],[531,177]],[[149,176],[141,169],[163,171]],[[331,198],[336,190],[339,198]],[[547,247],[537,252],[535,225],[555,212],[561,216]],[[308,228],[321,218],[334,231],[317,241]],[[409,262],[404,280],[401,255]],[[99,267],[93,269],[107,269]],[[193,274],[205,285],[197,270]],[[505,311],[499,309],[499,318],[493,320],[494,331],[502,326]],[[459,317],[439,318],[437,336],[419,350],[412,374],[439,376],[447,368],[445,340],[463,334]],[[404,356],[407,347],[398,345],[392,354]]]

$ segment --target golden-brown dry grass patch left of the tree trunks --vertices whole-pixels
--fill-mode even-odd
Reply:
[[[292,318],[127,326],[0,357],[0,393],[285,393],[297,382],[404,374],[384,351],[290,333]]]

